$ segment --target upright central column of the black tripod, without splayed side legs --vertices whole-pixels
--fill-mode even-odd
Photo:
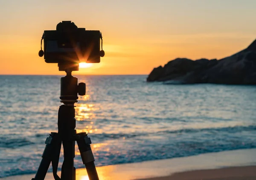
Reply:
[[[67,72],[65,77],[61,78],[61,105],[58,112],[58,133],[61,134],[64,150],[64,161],[61,168],[61,180],[75,180],[75,135],[76,119],[74,104],[78,96],[78,79]]]

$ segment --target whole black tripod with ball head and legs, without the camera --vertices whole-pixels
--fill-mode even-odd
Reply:
[[[78,83],[78,79],[71,75],[72,70],[66,70],[67,75],[61,78],[61,105],[58,110],[58,133],[51,133],[47,137],[44,153],[35,178],[32,180],[44,180],[49,165],[52,162],[52,173],[55,180],[76,180],[76,168],[74,167],[75,141],[77,142],[81,158],[90,180],[99,180],[93,152],[90,148],[91,140],[86,133],[76,134],[76,119],[74,104],[79,94],[85,95],[85,84]],[[61,167],[61,177],[58,176],[58,161],[61,151],[61,143],[64,149],[64,161]]]

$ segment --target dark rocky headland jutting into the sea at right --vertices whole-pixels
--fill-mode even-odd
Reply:
[[[256,84],[256,40],[246,49],[217,59],[176,58],[154,68],[147,81],[178,81],[183,84]]]

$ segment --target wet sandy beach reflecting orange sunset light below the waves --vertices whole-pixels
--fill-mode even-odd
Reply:
[[[227,169],[230,169],[229,174],[231,175],[232,173],[236,174],[238,172],[241,174],[241,172],[244,171],[256,179],[256,174],[253,174],[256,170],[256,148],[97,167],[100,180],[145,180],[146,178],[150,180],[174,180],[173,178],[175,178],[175,180],[179,180],[179,178],[183,178],[180,180],[197,180],[191,179],[191,177],[194,178],[196,176],[202,180],[205,178],[205,180],[207,180],[208,177],[212,177],[211,174],[216,174],[216,171],[218,171],[217,174],[225,174]],[[254,169],[254,171],[252,169]],[[60,172],[58,172],[58,174],[60,174]],[[199,176],[200,174],[201,177]],[[28,180],[34,176],[35,174],[26,174],[3,177],[0,179]],[[216,177],[217,179],[215,177],[214,178],[216,180],[221,180],[218,178],[222,177]],[[54,179],[52,177],[52,173],[47,173],[45,180],[52,179]],[[85,168],[79,168],[76,170],[76,180],[88,180]],[[233,177],[232,180],[236,179]]]

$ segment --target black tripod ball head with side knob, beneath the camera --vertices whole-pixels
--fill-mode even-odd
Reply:
[[[71,69],[66,69],[66,73],[67,75],[61,78],[60,99],[64,105],[74,106],[78,99],[77,94],[80,96],[85,95],[86,86],[83,82],[78,84],[78,78],[71,75]]]

